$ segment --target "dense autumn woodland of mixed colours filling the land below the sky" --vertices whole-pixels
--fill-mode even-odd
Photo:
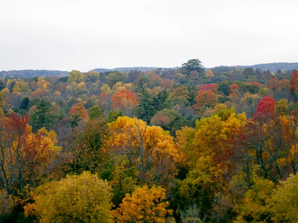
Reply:
[[[298,71],[0,79],[0,222],[298,222]]]

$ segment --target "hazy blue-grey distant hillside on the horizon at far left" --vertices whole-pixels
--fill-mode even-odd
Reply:
[[[0,71],[0,77],[66,76],[68,71],[60,70],[9,70]]]

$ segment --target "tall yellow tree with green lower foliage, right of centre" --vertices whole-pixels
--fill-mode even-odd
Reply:
[[[235,115],[227,109],[218,115],[201,118],[195,129],[186,130],[183,148],[190,170],[179,185],[180,205],[195,203],[204,214],[233,174],[233,139],[246,119],[244,114]]]

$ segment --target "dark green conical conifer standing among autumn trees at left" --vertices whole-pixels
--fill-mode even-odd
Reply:
[[[51,104],[42,99],[36,105],[36,109],[32,113],[31,125],[33,132],[36,132],[38,129],[45,127],[46,129],[50,129],[53,125],[55,115],[52,113],[53,109]]]

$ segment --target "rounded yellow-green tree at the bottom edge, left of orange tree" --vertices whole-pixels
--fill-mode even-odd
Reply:
[[[40,223],[109,223],[111,220],[110,187],[90,172],[42,185],[33,198],[35,203],[25,207],[25,215],[35,215]]]

